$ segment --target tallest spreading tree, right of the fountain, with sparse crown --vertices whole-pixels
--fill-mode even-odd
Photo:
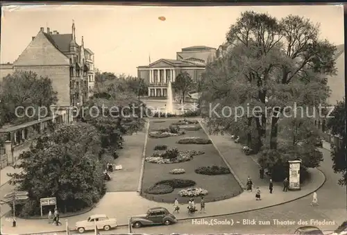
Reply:
[[[248,146],[264,151],[269,161],[271,155],[274,162],[281,162],[283,153],[276,149],[285,107],[312,110],[324,103],[328,97],[325,76],[336,70],[335,46],[318,35],[319,27],[303,17],[278,20],[243,12],[226,35],[230,51],[208,64],[200,86],[201,103],[205,103],[202,113],[210,114],[211,103],[218,106],[219,114],[226,107],[235,108],[230,115],[208,116],[211,131],[237,134]],[[309,134],[311,130],[302,131]],[[315,149],[313,142],[305,144]],[[267,154],[269,148],[271,154]],[[300,151],[296,148],[296,155]],[[314,157],[321,161],[319,155]],[[316,166],[316,161],[309,162],[308,167]]]

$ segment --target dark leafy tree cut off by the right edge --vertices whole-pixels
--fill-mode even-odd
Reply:
[[[332,118],[328,119],[327,127],[331,134],[342,138],[338,144],[331,145],[332,169],[335,173],[341,173],[339,180],[341,186],[347,185],[347,161],[346,161],[346,100],[338,101],[335,109],[330,114]]]

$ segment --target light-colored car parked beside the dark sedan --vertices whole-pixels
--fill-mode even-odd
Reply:
[[[108,218],[108,216],[100,214],[90,216],[87,220],[78,221],[76,223],[76,230],[82,234],[87,230],[94,230],[95,225],[98,229],[104,229],[106,231],[118,226],[115,218]]]

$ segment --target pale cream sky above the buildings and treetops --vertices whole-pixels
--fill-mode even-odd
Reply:
[[[1,63],[15,61],[40,27],[71,33],[94,52],[101,71],[137,75],[137,66],[161,58],[176,59],[187,46],[218,48],[241,12],[268,12],[278,19],[300,15],[321,24],[321,39],[344,44],[343,6],[35,6],[3,10]],[[158,17],[165,17],[161,21]]]

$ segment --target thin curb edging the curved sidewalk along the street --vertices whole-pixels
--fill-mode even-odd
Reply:
[[[242,214],[242,213],[245,213],[245,212],[250,212],[250,211],[259,211],[261,209],[266,209],[266,208],[271,208],[271,207],[276,207],[276,206],[280,206],[281,204],[287,204],[289,202],[294,202],[295,200],[299,200],[301,198],[305,198],[307,197],[307,195],[310,195],[311,193],[313,193],[314,191],[317,191],[319,189],[321,189],[321,187],[325,184],[326,182],[326,176],[325,174],[323,173],[323,171],[319,170],[316,168],[316,170],[318,170],[324,177],[324,181],[323,183],[316,189],[310,191],[310,193],[306,193],[305,195],[302,195],[298,198],[295,198],[293,200],[289,200],[289,201],[286,201],[286,202],[280,202],[278,204],[273,204],[273,205],[270,205],[270,206],[266,206],[266,207],[261,207],[261,208],[257,208],[257,209],[248,209],[248,210],[245,210],[245,211],[239,211],[239,212],[234,212],[234,213],[227,213],[227,214],[218,214],[218,215],[206,215],[206,216],[196,216],[196,217],[192,217],[192,218],[180,218],[178,219],[178,221],[185,221],[185,220],[192,220],[192,219],[198,219],[198,218],[214,218],[214,217],[219,217],[219,216],[230,216],[230,215],[235,215],[235,214]],[[118,225],[118,227],[126,227],[128,225]],[[75,231],[75,230],[70,230],[71,231]],[[58,233],[58,232],[66,232],[66,230],[57,230],[57,231],[51,231],[51,232],[40,232],[40,233],[30,233],[30,234],[21,234],[21,235],[33,235],[33,234],[52,234],[52,233]]]

